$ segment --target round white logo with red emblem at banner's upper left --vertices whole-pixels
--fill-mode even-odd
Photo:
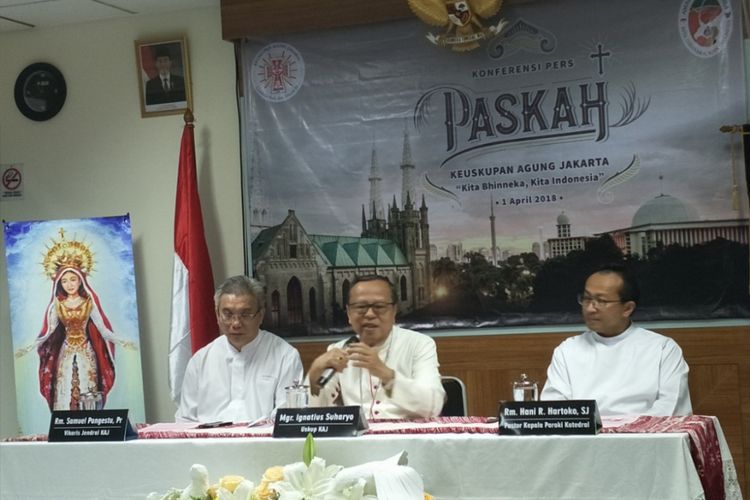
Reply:
[[[250,71],[253,87],[263,99],[282,102],[294,97],[302,87],[305,62],[291,45],[272,43],[258,52]]]

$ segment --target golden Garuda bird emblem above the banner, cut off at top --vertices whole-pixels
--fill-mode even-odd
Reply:
[[[412,12],[427,24],[445,28],[442,34],[427,34],[427,39],[440,47],[465,52],[479,47],[479,41],[492,38],[502,31],[507,21],[485,28],[481,19],[488,19],[500,10],[503,0],[408,0]]]

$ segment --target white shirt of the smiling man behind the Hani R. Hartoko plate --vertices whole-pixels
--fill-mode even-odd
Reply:
[[[542,400],[595,399],[601,415],[690,415],[688,365],[677,343],[634,325],[587,330],[552,355]]]

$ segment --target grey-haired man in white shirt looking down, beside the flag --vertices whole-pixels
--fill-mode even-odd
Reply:
[[[214,294],[222,335],[196,352],[185,370],[178,422],[251,422],[285,400],[285,387],[302,380],[297,350],[260,329],[263,285],[233,276]]]

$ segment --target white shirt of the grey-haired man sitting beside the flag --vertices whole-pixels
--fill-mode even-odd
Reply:
[[[302,362],[286,341],[260,330],[237,351],[222,335],[196,352],[182,382],[177,422],[251,422],[286,399],[302,380]]]

